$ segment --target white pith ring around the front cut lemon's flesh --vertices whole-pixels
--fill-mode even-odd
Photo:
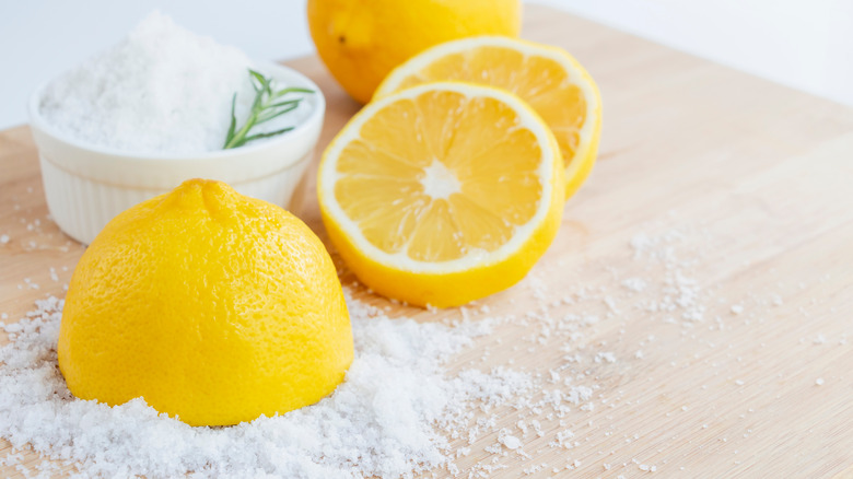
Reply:
[[[385,253],[362,235],[358,223],[346,214],[335,197],[335,185],[342,176],[336,170],[337,159],[348,143],[359,138],[359,132],[364,122],[373,117],[377,110],[394,102],[414,98],[430,91],[452,91],[460,93],[466,97],[480,96],[496,98],[510,105],[518,115],[521,120],[518,128],[529,130],[539,142],[541,156],[537,173],[541,183],[541,197],[538,200],[536,213],[527,223],[516,226],[513,237],[493,252],[471,248],[468,254],[461,258],[448,261],[419,261],[409,257],[406,254],[405,248],[396,254]],[[319,177],[323,178],[320,182],[320,197],[325,200],[326,213],[343,230],[350,241],[354,244],[355,248],[374,261],[395,269],[402,269],[417,273],[449,273],[465,271],[476,266],[495,264],[506,259],[522,248],[530,236],[533,236],[536,227],[545,221],[551,203],[551,197],[553,196],[551,182],[553,176],[554,153],[551,142],[549,141],[547,127],[535,116],[533,110],[516,96],[490,86],[478,86],[458,82],[429,83],[413,86],[374,101],[367,104],[355,115],[355,117],[353,117],[329,145],[325,161],[320,165],[322,171],[319,172]]]

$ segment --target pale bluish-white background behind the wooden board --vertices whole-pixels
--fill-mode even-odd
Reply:
[[[540,1],[853,106],[853,0]],[[38,83],[115,44],[157,8],[253,58],[314,50],[304,0],[3,0],[0,129],[26,122]]]

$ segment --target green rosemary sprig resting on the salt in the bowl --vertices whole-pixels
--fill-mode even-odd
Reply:
[[[267,131],[264,133],[249,135],[252,129],[258,125],[267,122],[273,118],[278,118],[285,113],[293,112],[305,98],[284,100],[283,97],[290,93],[314,93],[313,90],[288,87],[282,90],[274,90],[272,85],[272,78],[264,77],[255,70],[249,69],[249,75],[252,77],[252,86],[255,87],[255,101],[252,103],[252,110],[246,119],[246,122],[237,129],[237,117],[234,116],[234,106],[237,103],[237,94],[231,97],[231,126],[229,126],[229,133],[225,137],[225,145],[223,150],[231,148],[243,147],[249,141],[258,140],[260,138],[274,137],[277,135],[285,133],[293,129],[293,127],[282,128],[276,131]]]

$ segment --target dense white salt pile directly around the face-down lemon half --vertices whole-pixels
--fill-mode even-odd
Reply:
[[[488,320],[392,319],[350,296],[357,354],[332,395],[280,417],[191,428],[142,399],[110,408],[74,398],[56,361],[62,303],[38,301],[5,328],[0,436],[74,464],[79,477],[411,477],[452,466],[441,431],[465,430],[475,405],[500,405],[530,387],[526,374],[505,369],[445,374],[448,358],[489,332]]]

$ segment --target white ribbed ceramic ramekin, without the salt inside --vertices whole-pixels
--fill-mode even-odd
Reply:
[[[243,195],[288,208],[311,163],[326,102],[302,73],[273,63],[264,67],[288,85],[316,92],[305,100],[312,106],[308,117],[293,130],[256,144],[192,155],[135,154],[69,138],[39,114],[45,85],[38,87],[30,98],[30,127],[54,221],[69,236],[89,244],[121,211],[190,178],[219,179]]]

